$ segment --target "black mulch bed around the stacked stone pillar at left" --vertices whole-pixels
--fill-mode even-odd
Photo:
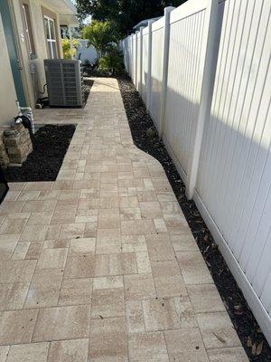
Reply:
[[[55,181],[76,125],[45,125],[32,136],[33,152],[22,167],[7,167],[8,182]]]

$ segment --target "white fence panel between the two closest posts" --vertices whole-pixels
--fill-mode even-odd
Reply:
[[[186,3],[171,14],[164,140],[182,167],[182,177],[188,170],[201,100],[207,3],[196,8]]]

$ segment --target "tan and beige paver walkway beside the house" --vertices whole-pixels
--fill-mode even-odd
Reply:
[[[0,361],[247,361],[117,81],[45,118],[78,127],[57,181],[11,184],[1,205]]]

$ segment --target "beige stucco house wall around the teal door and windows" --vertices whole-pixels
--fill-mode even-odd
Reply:
[[[30,60],[29,58],[25,42],[21,9],[22,1],[9,0],[14,26],[15,43],[17,43],[18,56],[23,67],[22,79],[25,99],[27,105],[33,107],[35,101],[40,96],[39,91],[42,91],[43,85],[46,83],[43,60],[48,58],[48,52],[43,25],[44,14],[51,14],[51,17],[55,20],[56,33],[58,37],[58,56],[60,58],[63,57],[63,52],[61,48],[60,20],[59,14],[57,14],[57,9],[52,8],[52,6],[47,4],[46,1],[41,0],[26,0],[25,3],[29,5],[32,24],[33,43],[36,55],[33,60]],[[6,87],[0,87],[0,125],[5,125],[8,124],[8,122],[16,114],[15,100],[17,99],[17,96],[14,90],[14,79],[6,49],[5,33],[2,22],[0,26],[0,84],[6,85]],[[6,97],[6,94],[2,94],[5,93],[6,89],[9,90],[8,97]],[[46,96],[46,93],[43,96]],[[2,102],[4,103],[3,107],[1,105]]]

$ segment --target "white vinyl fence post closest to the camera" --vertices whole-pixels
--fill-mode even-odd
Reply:
[[[208,33],[201,86],[200,109],[196,124],[192,157],[187,173],[186,196],[188,199],[192,199],[197,183],[204,124],[205,120],[210,117],[210,106],[220,49],[222,19],[219,14],[219,0],[210,0],[208,10],[206,23],[208,26]]]

